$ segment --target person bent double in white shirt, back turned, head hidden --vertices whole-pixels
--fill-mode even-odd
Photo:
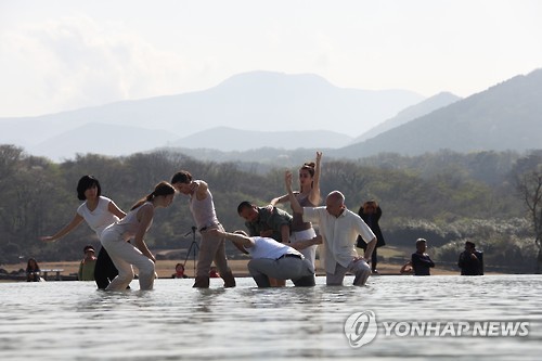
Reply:
[[[296,286],[315,285],[314,268],[298,250],[269,237],[248,236],[243,231],[228,233],[216,230],[220,236],[233,242],[242,252],[248,253],[248,272],[258,287],[270,287],[270,278],[274,280],[292,280]],[[305,247],[322,243],[321,236],[300,241]]]

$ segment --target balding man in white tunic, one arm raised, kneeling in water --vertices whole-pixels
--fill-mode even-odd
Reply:
[[[325,198],[325,207],[301,207],[292,191],[292,173],[285,173],[286,190],[294,211],[302,215],[305,221],[319,223],[323,238],[321,259],[325,268],[327,285],[343,285],[345,274],[354,274],[353,284],[365,284],[371,268],[369,261],[376,245],[376,236],[361,217],[345,206],[345,196],[339,191],[331,192]],[[356,241],[361,235],[367,243],[363,257],[358,256]]]

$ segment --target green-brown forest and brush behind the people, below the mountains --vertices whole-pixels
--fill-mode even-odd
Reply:
[[[304,155],[311,152],[304,151]],[[312,152],[315,154],[315,151]],[[41,235],[60,230],[74,217],[80,201],[76,185],[83,175],[100,180],[102,194],[124,210],[152,192],[173,172],[189,170],[209,184],[219,220],[227,230],[244,228],[236,207],[242,201],[264,206],[285,193],[284,171],[299,165],[266,165],[256,171],[258,151],[251,162],[198,160],[175,150],[111,157],[77,155],[53,163],[26,154],[14,145],[0,145],[0,263],[37,257],[41,261],[69,261],[81,257],[86,244],[99,240],[86,225],[54,243]],[[542,151],[451,151],[405,157],[378,154],[358,160],[322,158],[321,192],[343,192],[349,209],[358,211],[367,199],[382,209],[380,227],[390,246],[414,250],[424,237],[431,258],[451,267],[465,241],[485,252],[487,269],[503,272],[537,272],[540,234],[540,176]],[[537,198],[537,196],[539,198]],[[535,207],[532,206],[534,203]],[[291,210],[286,206],[286,210]],[[156,212],[146,242],[153,252],[188,248],[192,241],[188,198],[178,194],[173,204]],[[235,257],[233,247],[229,249]]]

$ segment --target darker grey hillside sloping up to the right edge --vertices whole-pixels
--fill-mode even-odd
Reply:
[[[442,149],[527,151],[542,145],[542,69],[516,76],[364,142],[331,150],[359,158],[380,152],[418,155]]]

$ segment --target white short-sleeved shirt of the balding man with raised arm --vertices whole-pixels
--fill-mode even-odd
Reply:
[[[363,219],[346,208],[339,217],[335,217],[330,215],[324,206],[304,207],[304,220],[320,224],[323,238],[320,256],[324,259],[325,271],[328,273],[335,273],[337,263],[347,268],[353,258],[358,257],[358,235],[366,243],[375,237]]]

